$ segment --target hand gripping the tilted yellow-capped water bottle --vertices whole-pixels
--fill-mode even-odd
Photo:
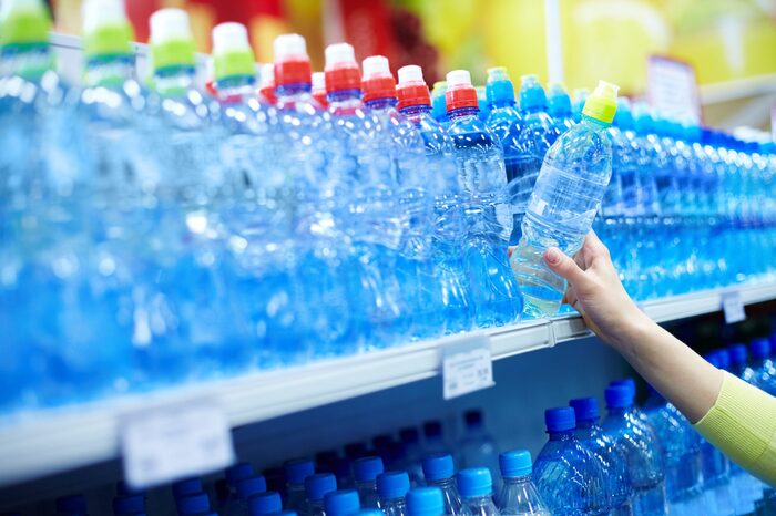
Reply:
[[[588,234],[573,259],[554,247],[543,258],[569,283],[563,302],[574,307],[604,342],[619,347],[635,329],[652,323],[627,296],[609,249],[595,233]]]

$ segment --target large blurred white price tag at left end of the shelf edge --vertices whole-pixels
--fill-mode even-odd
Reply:
[[[235,460],[226,416],[203,401],[127,414],[121,445],[124,477],[133,488],[203,475]]]

